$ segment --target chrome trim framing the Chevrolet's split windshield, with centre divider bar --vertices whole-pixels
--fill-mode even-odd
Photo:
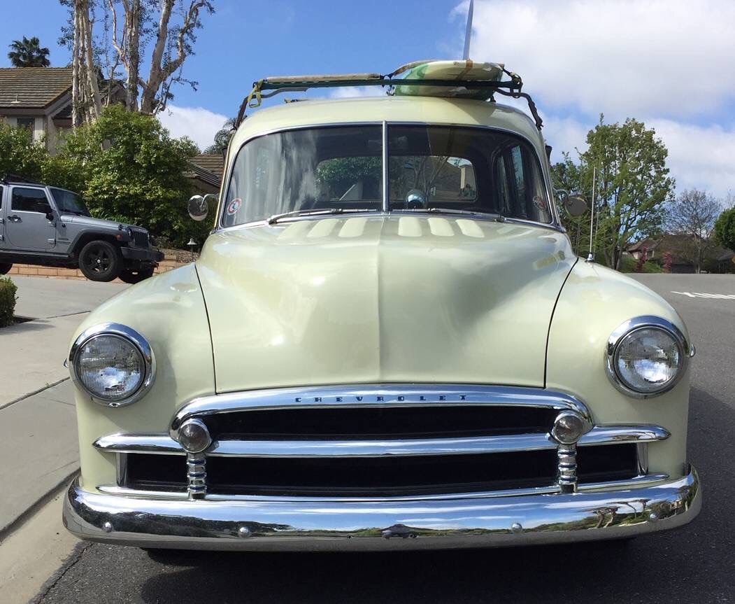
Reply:
[[[382,199],[382,212],[381,214],[390,215],[396,210],[390,210],[390,199],[388,194],[388,182],[386,182],[386,172],[387,172],[387,135],[388,135],[388,128],[391,126],[438,126],[438,127],[453,127],[453,128],[477,128],[477,129],[483,129],[483,130],[494,130],[495,132],[503,132],[505,134],[516,136],[517,138],[520,138],[521,140],[528,143],[529,146],[531,146],[531,149],[533,149],[534,154],[536,155],[536,159],[539,163],[539,167],[541,168],[542,177],[545,184],[545,196],[546,196],[546,202],[547,207],[549,210],[549,213],[551,215],[551,222],[537,222],[533,220],[524,220],[523,218],[508,218],[507,216],[503,216],[503,218],[506,221],[514,221],[519,222],[520,224],[528,224],[529,226],[534,227],[544,227],[547,229],[555,230],[557,232],[565,233],[564,227],[562,226],[561,222],[559,221],[559,216],[557,216],[556,207],[554,205],[553,201],[553,183],[551,182],[551,174],[548,172],[547,163],[544,163],[545,156],[542,154],[539,154],[539,149],[537,149],[537,141],[534,141],[531,139],[531,137],[527,136],[523,132],[518,132],[517,130],[502,127],[502,126],[490,126],[487,124],[457,124],[456,122],[428,122],[428,121],[390,121],[390,120],[383,120],[383,121],[340,121],[340,122],[333,122],[333,123],[321,123],[321,124],[301,124],[298,126],[289,126],[284,128],[273,128],[264,130],[263,132],[258,132],[257,134],[254,134],[252,136],[249,136],[248,138],[245,138],[245,140],[240,143],[240,146],[237,148],[237,152],[234,152],[234,157],[232,158],[232,162],[229,162],[229,165],[225,166],[225,173],[223,174],[222,178],[222,187],[221,187],[221,195],[220,195],[220,202],[218,204],[217,209],[217,222],[215,228],[212,230],[212,233],[217,232],[223,232],[223,231],[229,231],[229,230],[237,230],[242,228],[250,228],[250,227],[262,227],[265,225],[268,225],[268,218],[263,218],[262,220],[257,221],[251,221],[251,222],[245,222],[243,224],[234,224],[232,227],[223,227],[222,225],[222,212],[224,209],[224,199],[226,199],[226,194],[229,189],[229,182],[232,180],[232,171],[234,170],[234,165],[237,162],[237,154],[240,153],[240,151],[243,149],[243,147],[250,143],[251,141],[254,141],[256,138],[261,138],[263,136],[267,135],[273,135],[273,134],[280,134],[282,132],[294,132],[297,130],[306,130],[311,128],[333,128],[333,127],[350,127],[350,126],[381,126],[383,128],[383,199]],[[543,143],[543,141],[541,141]],[[230,149],[228,148],[228,161],[230,157]],[[375,214],[373,214],[374,216]],[[440,216],[441,214],[437,212],[435,216]],[[295,220],[304,220],[309,219],[313,217],[310,216],[304,216],[304,217],[295,217]],[[323,218],[323,217],[317,217],[317,218]],[[477,219],[480,220],[481,218],[472,218],[473,220]],[[487,219],[487,218],[486,218]]]

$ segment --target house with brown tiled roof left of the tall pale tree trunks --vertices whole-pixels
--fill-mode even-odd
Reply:
[[[54,152],[71,128],[71,67],[0,68],[0,121],[27,128]]]

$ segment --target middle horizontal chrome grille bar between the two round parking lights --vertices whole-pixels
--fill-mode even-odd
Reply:
[[[578,441],[580,447],[665,440],[668,430],[656,425],[599,425]],[[348,458],[419,455],[478,455],[556,449],[548,433],[509,434],[467,438],[403,438],[356,440],[227,440],[215,441],[208,457],[243,458]],[[184,455],[182,446],[165,434],[111,434],[94,442],[101,451]]]

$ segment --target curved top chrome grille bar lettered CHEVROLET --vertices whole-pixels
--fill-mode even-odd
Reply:
[[[214,394],[182,406],[171,420],[169,434],[176,440],[185,419],[251,409],[313,409],[352,407],[522,406],[576,411],[592,427],[587,405],[570,394],[521,386],[459,386],[454,384],[350,384],[273,388]]]

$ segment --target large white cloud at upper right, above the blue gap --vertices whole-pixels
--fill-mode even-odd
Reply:
[[[733,24],[732,0],[478,0],[471,56],[505,61],[547,107],[701,115],[735,99]]]

